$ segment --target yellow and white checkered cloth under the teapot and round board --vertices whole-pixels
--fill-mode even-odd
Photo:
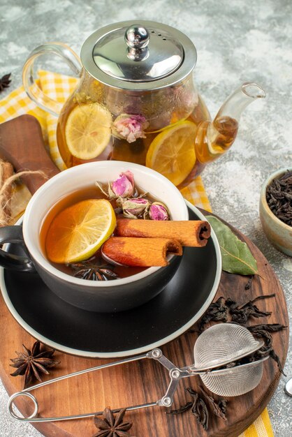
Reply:
[[[59,75],[57,73],[50,73],[48,71],[39,71],[38,85],[45,94],[50,98],[65,103],[66,99],[74,91],[78,84],[78,79],[75,77],[68,77]],[[60,170],[65,170],[64,164],[57,147],[57,117],[54,117],[48,112],[41,110],[38,106],[30,100],[24,91],[23,87],[15,89],[6,98],[0,101],[0,123],[8,121],[22,114],[31,114],[38,119],[43,131],[43,138],[45,144],[48,146],[50,155],[54,163]],[[182,195],[197,207],[211,211],[210,203],[205,193],[202,179],[196,177],[191,184],[182,189]],[[239,437],[273,437],[272,427],[268,410],[265,408],[261,416],[259,416],[254,424],[252,424]]]

